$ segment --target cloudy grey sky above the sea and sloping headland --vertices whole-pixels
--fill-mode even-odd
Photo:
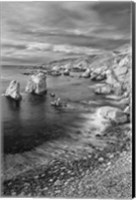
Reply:
[[[131,2],[1,2],[2,64],[99,54],[131,40]]]

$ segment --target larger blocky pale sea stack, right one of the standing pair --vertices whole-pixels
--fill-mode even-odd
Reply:
[[[32,75],[27,83],[26,92],[37,95],[47,92],[46,75],[42,72]]]

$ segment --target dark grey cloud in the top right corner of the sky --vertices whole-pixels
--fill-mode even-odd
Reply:
[[[114,26],[117,31],[130,34],[131,2],[101,2],[91,6],[102,22]]]

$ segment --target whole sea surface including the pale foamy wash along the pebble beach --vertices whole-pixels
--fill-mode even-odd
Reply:
[[[103,148],[106,145],[94,134],[93,112],[97,103],[100,101],[103,104],[104,99],[96,96],[90,88],[93,82],[80,79],[79,73],[74,73],[74,77],[47,76],[47,94],[35,96],[25,93],[29,76],[23,75],[23,72],[26,69],[7,67],[2,70],[1,92],[4,93],[10,81],[15,79],[20,82],[23,95],[20,106],[2,97],[6,178],[56,157],[82,157],[86,152],[91,153],[93,146]],[[68,106],[64,109],[52,107],[50,102],[54,98],[50,92],[54,92],[55,98],[60,97]],[[93,102],[89,107],[81,103],[88,100]]]

